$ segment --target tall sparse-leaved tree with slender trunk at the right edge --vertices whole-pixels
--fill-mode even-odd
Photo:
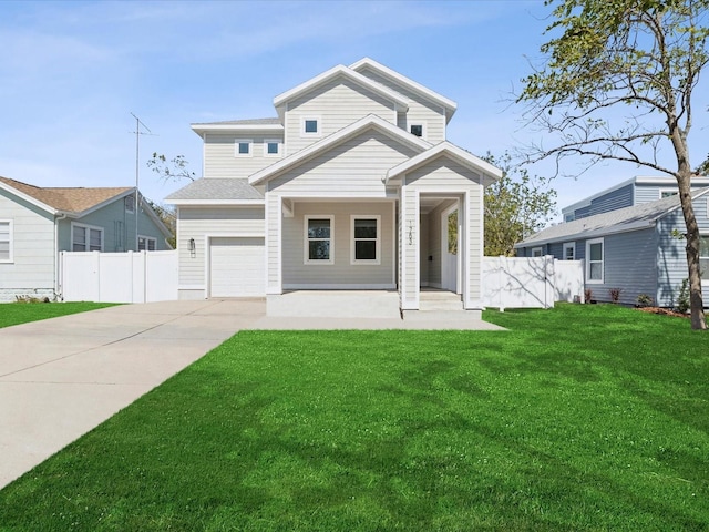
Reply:
[[[692,94],[709,61],[709,0],[546,3],[553,22],[544,63],[523,80],[517,101],[556,145],[530,146],[530,160],[580,155],[672,175],[687,226],[691,326],[706,329],[688,137]]]

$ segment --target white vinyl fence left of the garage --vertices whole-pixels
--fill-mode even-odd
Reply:
[[[152,303],[177,299],[177,252],[62,252],[65,301]]]

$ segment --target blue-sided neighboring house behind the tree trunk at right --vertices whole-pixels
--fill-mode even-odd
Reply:
[[[687,278],[686,232],[677,186],[671,178],[636,177],[563,209],[568,222],[547,227],[515,245],[518,256],[553,255],[585,259],[585,284],[593,299],[633,305],[640,294],[672,307]],[[709,185],[709,178],[693,180]],[[701,232],[701,269],[709,273],[709,187],[693,193]],[[654,198],[654,200],[650,200]],[[628,206],[629,204],[629,206]],[[702,282],[709,301],[709,279]]]

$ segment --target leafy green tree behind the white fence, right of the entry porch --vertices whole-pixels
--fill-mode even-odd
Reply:
[[[556,209],[549,178],[530,176],[512,165],[510,154],[484,157],[502,168],[502,177],[485,188],[485,256],[513,256],[514,245],[542,229]]]

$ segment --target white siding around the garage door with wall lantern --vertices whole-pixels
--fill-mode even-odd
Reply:
[[[179,254],[178,290],[181,299],[206,295],[207,239],[209,236],[264,236],[264,207],[179,207],[177,250]],[[195,252],[189,239],[195,241]]]

